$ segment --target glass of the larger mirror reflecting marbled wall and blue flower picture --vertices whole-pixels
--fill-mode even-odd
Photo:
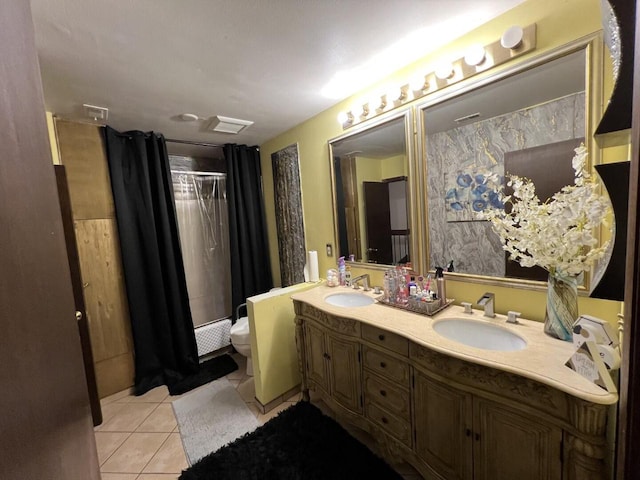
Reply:
[[[466,274],[545,280],[507,261],[475,212],[502,208],[505,174],[531,178],[550,197],[573,183],[573,148],[585,137],[584,50],[423,109],[429,268],[453,261]],[[496,183],[485,182],[496,174]]]

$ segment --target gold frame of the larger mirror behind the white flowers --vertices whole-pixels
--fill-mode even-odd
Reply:
[[[549,61],[561,58],[571,53],[584,51],[585,54],[585,144],[587,146],[589,156],[588,164],[589,168],[593,169],[593,166],[601,162],[600,148],[596,143],[594,136],[595,129],[598,125],[598,121],[602,115],[602,99],[603,99],[603,80],[602,75],[598,72],[602,72],[603,67],[603,40],[602,33],[597,32],[591,35],[587,35],[573,42],[570,42],[561,47],[557,47],[549,50],[541,55],[536,55],[527,60],[518,62],[517,64],[508,66],[500,71],[489,70],[486,75],[481,77],[473,77],[467,82],[461,82],[454,86],[452,89],[445,89],[444,91],[434,92],[425,101],[417,104],[415,108],[416,118],[416,148],[419,152],[420,161],[417,162],[416,177],[418,179],[418,191],[420,192],[419,208],[415,211],[420,212],[418,219],[419,231],[421,235],[421,245],[418,247],[421,251],[420,259],[421,263],[416,263],[415,268],[421,272],[432,271],[432,265],[429,265],[429,225],[428,225],[428,202],[427,192],[424,187],[427,185],[428,178],[428,165],[427,165],[427,152],[425,142],[425,122],[424,115],[425,110],[429,107],[440,104],[446,100],[464,95],[477,88],[490,85],[496,81],[503,80],[508,77],[512,77],[519,73],[525,72],[539,65],[547,63]],[[419,135],[418,135],[419,133]],[[602,241],[602,227],[598,231],[598,240]],[[593,269],[592,269],[593,270]],[[529,290],[546,290],[547,284],[543,281],[525,280],[509,277],[491,277],[478,274],[468,273],[447,273],[447,277],[451,280],[460,280],[467,283],[481,283],[491,284],[503,287],[516,287],[520,289]],[[579,287],[580,295],[588,295],[590,291],[590,279],[591,271],[585,272],[584,283]]]

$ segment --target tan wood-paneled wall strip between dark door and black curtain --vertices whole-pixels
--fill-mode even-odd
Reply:
[[[102,127],[56,119],[100,398],[133,385],[134,352]]]

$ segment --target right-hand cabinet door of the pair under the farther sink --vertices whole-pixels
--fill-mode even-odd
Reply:
[[[342,406],[362,413],[362,375],[358,360],[360,344],[353,340],[340,340],[330,334],[327,336],[327,344],[331,365],[331,395]]]

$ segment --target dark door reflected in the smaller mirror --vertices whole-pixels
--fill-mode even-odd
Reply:
[[[389,186],[362,182],[367,230],[366,259],[369,263],[393,264]]]

